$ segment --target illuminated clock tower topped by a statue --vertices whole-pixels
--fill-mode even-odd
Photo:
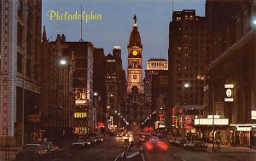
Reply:
[[[140,33],[137,28],[137,17],[133,17],[131,36],[127,45],[128,49],[128,71],[127,71],[127,93],[131,94],[131,89],[137,87],[138,93],[143,94],[143,45]]]

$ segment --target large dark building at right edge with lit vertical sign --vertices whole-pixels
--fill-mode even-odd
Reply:
[[[228,119],[224,128],[214,129],[222,143],[256,147],[256,3],[207,0],[206,7],[211,29],[206,115]]]

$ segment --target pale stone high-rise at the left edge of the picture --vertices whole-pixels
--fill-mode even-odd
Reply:
[[[42,2],[0,2],[0,145],[40,137]]]

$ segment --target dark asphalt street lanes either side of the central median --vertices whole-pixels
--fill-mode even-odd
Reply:
[[[143,150],[143,157],[145,161],[254,161],[256,159],[256,151],[240,150],[240,151],[222,151],[222,152],[198,152],[184,149],[183,147],[177,147],[169,144],[166,139],[161,140],[166,142],[168,149],[166,151],[152,151]],[[143,144],[144,145],[144,144]],[[90,147],[85,148],[70,148],[62,152],[62,156],[59,158],[45,158],[47,161],[113,161],[120,152],[125,151],[125,143],[122,138],[108,137],[101,143],[96,143]],[[0,153],[4,154],[3,151]],[[15,152],[12,152],[15,153]],[[10,160],[14,156],[11,156]],[[5,160],[4,155],[0,156],[0,160]],[[132,160],[126,159],[126,160]],[[136,160],[136,159],[133,159]],[[143,159],[141,159],[143,160]]]

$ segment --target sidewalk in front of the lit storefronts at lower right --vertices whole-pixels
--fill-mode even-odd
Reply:
[[[212,144],[207,143],[207,152],[212,152]],[[256,149],[250,149],[247,147],[229,147],[221,146],[219,152],[241,152],[241,153],[256,153]]]

